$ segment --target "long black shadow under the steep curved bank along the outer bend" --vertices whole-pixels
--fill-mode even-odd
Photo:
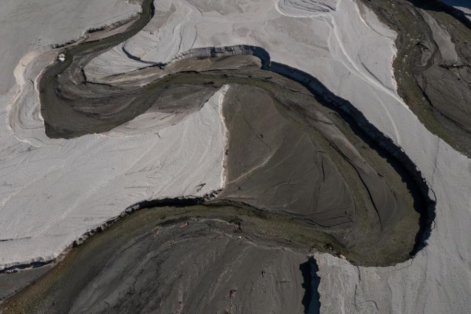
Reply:
[[[261,47],[237,45],[197,48],[189,50],[184,55],[192,57],[252,55],[261,60],[262,70],[277,73],[305,86],[320,104],[336,112],[364,143],[377,151],[401,176],[414,199],[414,210],[420,215],[419,231],[416,234],[415,245],[410,255],[416,255],[418,251],[426,246],[426,240],[430,236],[432,224],[435,220],[436,200],[434,192],[430,191],[422,172],[405,151],[370,123],[352,103],[335,95],[312,75],[282,63],[272,62],[270,54]],[[431,194],[434,195],[434,199],[430,197]]]

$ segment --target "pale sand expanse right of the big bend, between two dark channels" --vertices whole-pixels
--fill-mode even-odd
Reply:
[[[199,2],[192,3],[198,7]],[[159,6],[162,11],[170,9],[164,2]],[[335,11],[310,12],[314,16],[299,21],[278,16],[269,1],[265,7],[261,2],[250,9],[241,5],[239,11],[231,13],[198,11],[185,4],[175,8],[185,12],[181,14],[185,18],[170,19],[167,25],[169,30],[179,29],[179,35],[166,41],[164,35],[169,30],[160,28],[158,49],[141,57],[163,60],[168,51],[178,55],[191,47],[240,43],[261,46],[271,54],[272,60],[303,69],[349,100],[403,147],[431,184],[438,201],[436,224],[429,246],[412,263],[379,269],[357,268],[335,257],[316,256],[325,278],[319,285],[322,310],[327,313],[466,311],[471,292],[470,269],[465,261],[471,249],[465,240],[470,236],[467,228],[470,161],[431,134],[397,95],[391,68],[394,32],[381,25],[370,11],[360,15],[354,1],[338,1]],[[237,13],[240,11],[244,14]],[[223,25],[214,27],[222,20]],[[294,28],[296,31],[292,32]],[[139,35],[135,42],[138,39]],[[159,56],[164,50],[166,53]],[[124,60],[118,56],[102,57],[122,64]],[[97,67],[94,66],[95,71]]]

